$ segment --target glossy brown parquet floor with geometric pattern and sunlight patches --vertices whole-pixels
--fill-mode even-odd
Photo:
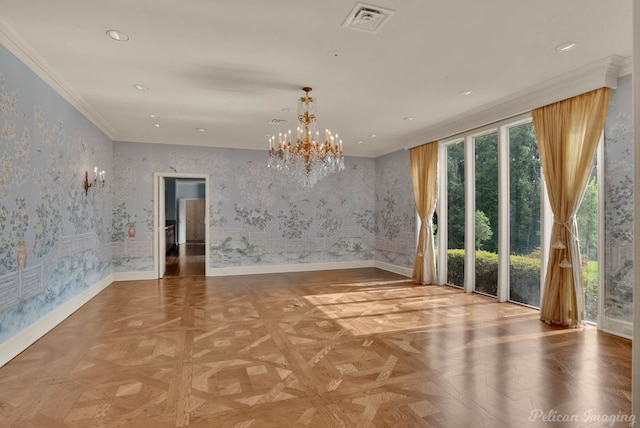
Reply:
[[[628,340],[368,268],[117,282],[0,369],[2,427],[629,426],[630,398]]]

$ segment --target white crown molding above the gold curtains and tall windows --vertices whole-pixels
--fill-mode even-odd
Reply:
[[[625,58],[618,55],[603,58],[415,132],[376,156],[442,140],[601,87],[615,88],[624,63]]]

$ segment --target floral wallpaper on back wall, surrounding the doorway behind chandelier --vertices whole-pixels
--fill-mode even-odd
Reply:
[[[373,260],[375,161],[312,189],[267,168],[266,151],[114,143],[116,271],[153,268],[153,173],[210,174],[211,268]],[[135,236],[128,231],[134,225]]]

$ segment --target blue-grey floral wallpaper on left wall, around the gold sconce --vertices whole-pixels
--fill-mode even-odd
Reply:
[[[0,343],[111,273],[112,149],[0,46]]]

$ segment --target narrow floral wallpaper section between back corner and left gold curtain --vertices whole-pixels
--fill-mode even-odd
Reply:
[[[376,159],[376,207],[358,218],[376,234],[376,260],[413,268],[416,207],[409,173],[409,151]]]

